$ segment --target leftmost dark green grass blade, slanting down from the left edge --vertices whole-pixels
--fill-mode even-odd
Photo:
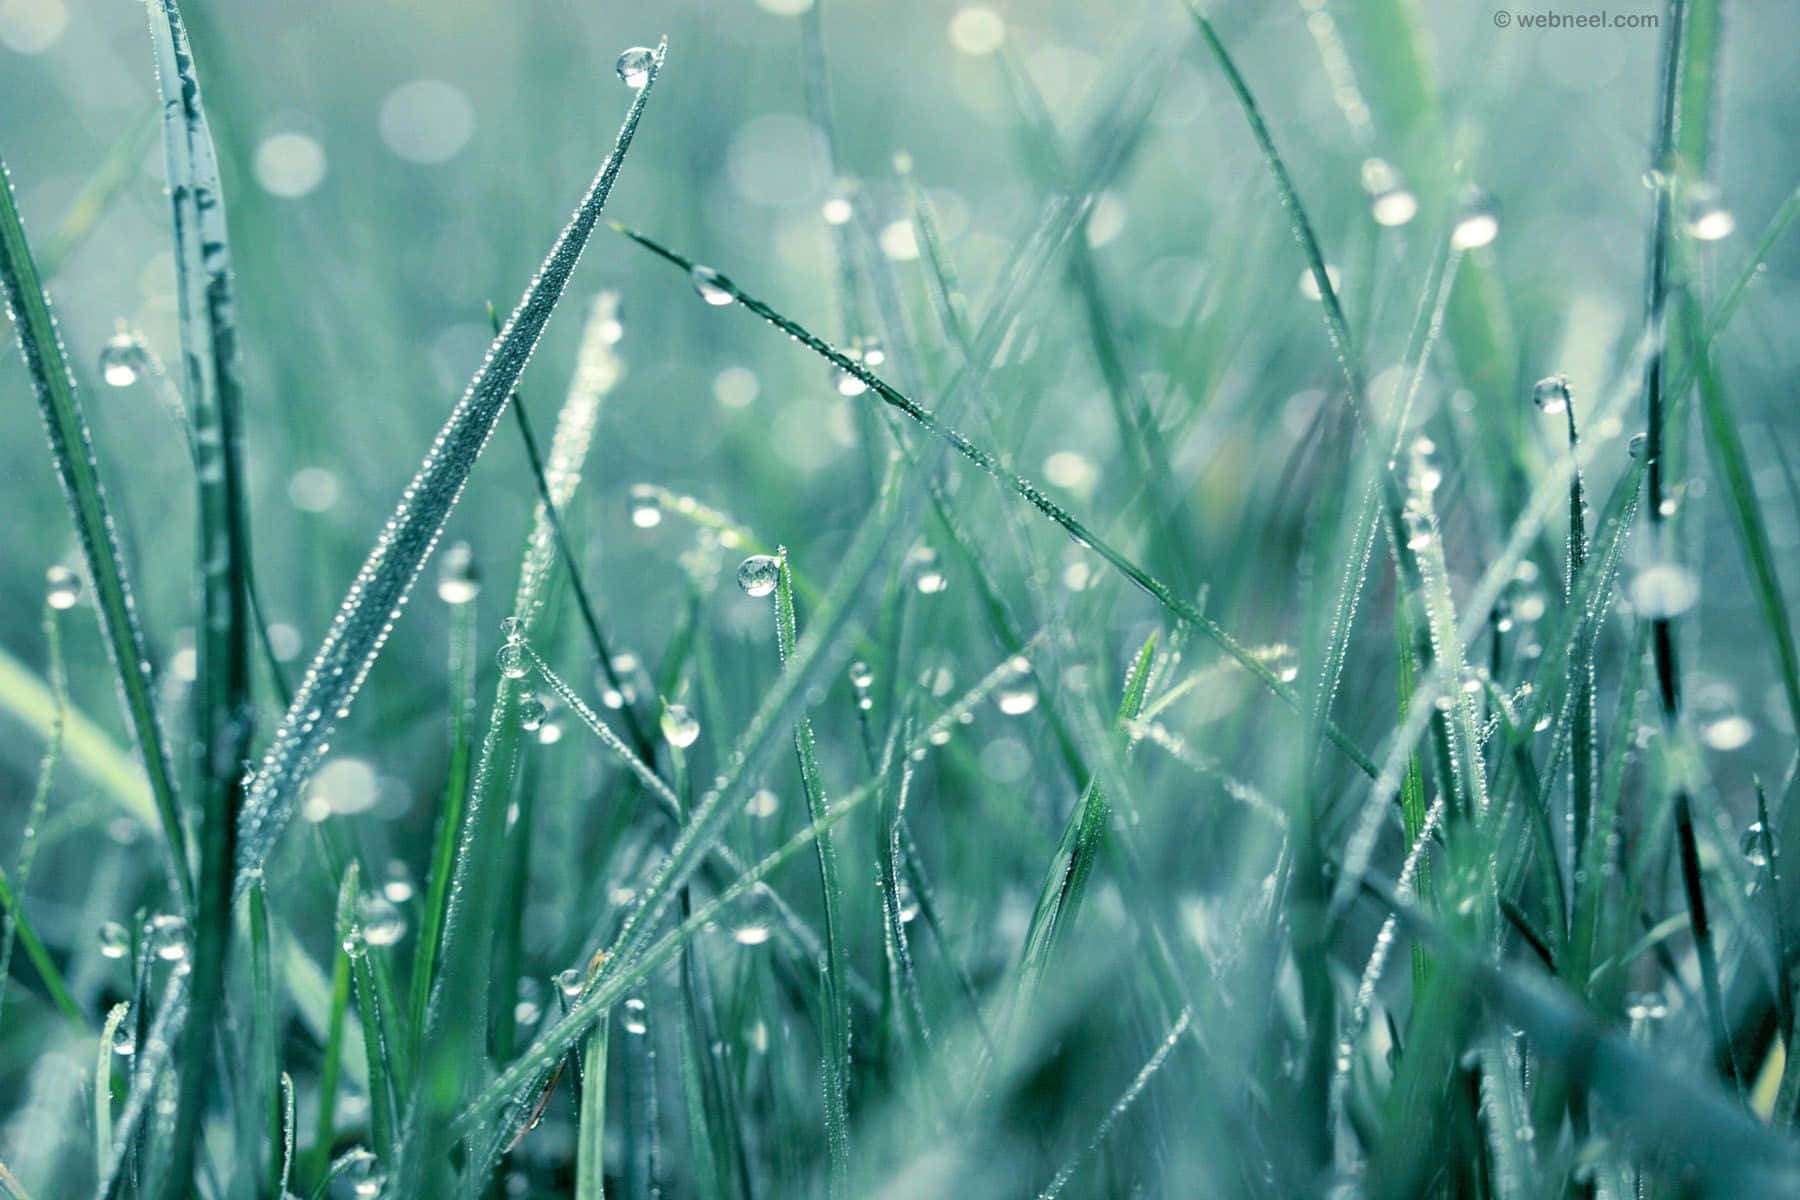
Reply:
[[[193,903],[193,880],[187,874],[187,835],[182,833],[180,802],[175,774],[164,748],[162,723],[157,718],[155,673],[144,633],[137,624],[131,601],[131,583],[124,558],[119,552],[119,534],[106,506],[99,464],[94,459],[94,437],[88,434],[81,401],[76,396],[76,378],[68,369],[63,342],[50,315],[50,300],[43,293],[38,268],[25,241],[25,227],[13,198],[13,176],[0,160],[0,290],[5,291],[7,315],[13,317],[20,351],[25,354],[25,372],[38,394],[43,428],[50,437],[50,461],[63,484],[81,552],[94,581],[101,610],[101,628],[106,631],[106,653],[112,657],[119,687],[124,694],[126,716],[137,734],[149,775],[149,792],[157,802],[157,819],[167,851],[167,871],[175,891]]]

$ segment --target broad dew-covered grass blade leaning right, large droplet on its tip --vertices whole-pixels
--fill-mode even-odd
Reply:
[[[461,498],[468,473],[493,434],[500,412],[513,394],[513,385],[518,383],[520,372],[531,360],[544,326],[569,286],[569,275],[594,232],[594,223],[612,193],[612,184],[632,146],[632,135],[637,131],[637,122],[666,54],[668,41],[664,40],[652,58],[637,99],[632,101],[632,108],[625,115],[625,124],[619,126],[612,153],[601,164],[567,228],[556,237],[556,245],[551,246],[544,266],[526,288],[500,336],[495,338],[488,360],[450,412],[450,419],[427,452],[418,475],[401,493],[394,516],[376,538],[374,549],[344,597],[344,604],[331,622],[331,631],[313,657],[288,714],[275,730],[275,739],[250,784],[238,829],[239,889],[245,873],[261,865],[292,819],[293,801],[301,784],[319,765],[333,721],[349,712],[349,705],[367,678],[369,667],[374,666],[374,658],[425,567],[427,556],[437,545],[443,524]]]

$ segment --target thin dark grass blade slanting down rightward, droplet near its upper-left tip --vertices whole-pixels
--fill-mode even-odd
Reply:
[[[1118,570],[1134,585],[1138,585],[1145,594],[1148,594],[1159,604],[1168,608],[1175,617],[1201,630],[1220,649],[1224,649],[1231,658],[1235,658],[1246,671],[1255,675],[1283,703],[1287,703],[1296,712],[1301,711],[1300,698],[1294,694],[1294,689],[1289,687],[1285,682],[1282,682],[1282,678],[1276,676],[1274,671],[1271,671],[1260,658],[1256,658],[1249,649],[1246,649],[1235,637],[1226,633],[1224,626],[1220,626],[1217,621],[1202,613],[1192,603],[1175,596],[1175,592],[1166,583],[1148,574],[1143,567],[1134,563],[1121,551],[1105,542],[1100,534],[1093,533],[1076,516],[1064,511],[1055,500],[1051,500],[1042,488],[1039,488],[1031,480],[1024,479],[1017,471],[1004,466],[994,453],[974,444],[963,434],[956,432],[941,419],[938,419],[932,412],[922,408],[914,399],[896,390],[891,383],[871,372],[859,360],[850,358],[844,353],[833,349],[828,342],[819,338],[815,333],[808,331],[805,326],[796,324],[788,317],[783,317],[776,309],[758,300],[754,295],[743,291],[725,275],[702,268],[691,259],[662,246],[655,239],[639,234],[637,230],[626,228],[625,225],[614,223],[614,228],[630,237],[632,241],[635,241],[637,245],[644,246],[652,254],[657,254],[659,257],[673,263],[675,266],[680,266],[689,275],[700,272],[698,277],[706,281],[707,288],[716,288],[720,293],[729,295],[747,311],[769,322],[781,333],[788,335],[790,338],[810,349],[814,354],[819,354],[839,371],[860,380],[864,387],[880,396],[886,403],[893,405],[905,416],[913,417],[913,421],[923,426],[929,434],[943,439],[965,459],[979,466],[983,471],[992,475],[1001,484],[1012,488],[1012,491],[1017,493],[1022,500],[1026,500],[1031,507],[1035,507],[1053,524],[1060,525],[1062,531],[1069,534],[1076,543],[1085,545],[1087,549],[1100,554],[1100,558],[1103,558],[1114,570]],[[1350,759],[1357,766],[1361,766],[1364,774],[1368,774],[1370,777],[1379,774],[1375,763],[1363,752],[1361,747],[1355,745],[1350,734],[1343,732],[1337,725],[1332,723],[1325,725],[1325,734],[1346,756],[1350,756]]]

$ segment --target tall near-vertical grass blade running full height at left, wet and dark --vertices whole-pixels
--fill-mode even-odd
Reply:
[[[158,1195],[191,1186],[200,1110],[223,1009],[230,941],[232,858],[250,748],[250,545],[243,506],[243,367],[238,353],[230,236],[218,157],[207,126],[193,50],[175,0],[146,0],[162,149],[175,230],[182,324],[182,374],[193,414],[200,513],[200,619],[196,622],[194,774],[200,788],[200,864],[194,905],[194,979],[176,1061],[180,1092],[169,1171]],[[243,1148],[239,1148],[243,1150]]]

